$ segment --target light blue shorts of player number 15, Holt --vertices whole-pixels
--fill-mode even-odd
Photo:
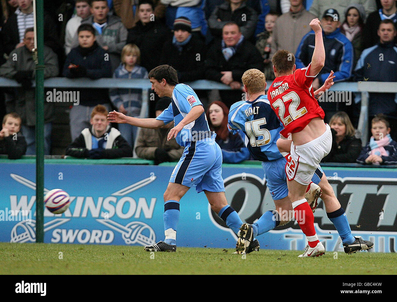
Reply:
[[[287,160],[284,157],[276,159],[275,161],[262,162],[263,170],[265,171],[266,186],[273,200],[283,199],[288,196],[287,174],[285,174],[285,164]],[[323,170],[320,166],[314,172],[312,182],[320,182]]]

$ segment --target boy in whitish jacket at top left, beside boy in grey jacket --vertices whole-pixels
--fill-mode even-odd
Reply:
[[[79,28],[81,21],[88,18],[91,15],[89,0],[76,0],[76,13],[77,15],[66,23],[66,34],[65,34],[65,54],[69,54],[70,50],[76,46],[79,46],[79,40],[77,38],[77,29]]]

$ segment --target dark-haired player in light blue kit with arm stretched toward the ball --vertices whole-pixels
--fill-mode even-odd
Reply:
[[[222,179],[222,151],[215,142],[216,134],[210,131],[204,107],[193,89],[178,84],[177,72],[169,65],[152,69],[148,75],[152,89],[159,97],[171,97],[170,106],[156,119],[127,117],[112,111],[111,122],[128,123],[143,128],[159,128],[174,122],[168,140],[176,138],[185,149],[175,166],[164,193],[164,241],[145,247],[146,251],[175,252],[176,229],[179,221],[179,201],[191,188],[204,191],[212,210],[216,212],[236,234],[243,223],[237,212],[227,204]],[[258,250],[257,240],[252,241],[250,252]]]

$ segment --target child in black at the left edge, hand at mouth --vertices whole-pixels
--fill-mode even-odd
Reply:
[[[0,154],[8,155],[9,159],[20,159],[26,153],[26,140],[21,130],[21,117],[17,113],[8,113],[3,118],[0,131]]]

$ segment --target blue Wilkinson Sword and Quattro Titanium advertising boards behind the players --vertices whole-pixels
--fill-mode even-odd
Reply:
[[[45,243],[151,245],[164,239],[164,200],[172,166],[46,164],[44,194],[55,188],[71,197],[63,214],[44,210]],[[353,235],[374,242],[372,252],[397,250],[397,171],[324,168]],[[258,166],[222,168],[226,198],[243,222],[274,209]],[[1,163],[0,241],[35,242],[35,165]],[[180,202],[178,247],[234,248],[236,236],[212,212],[204,193],[190,189]],[[314,222],[327,251],[341,240],[319,202]],[[301,250],[306,237],[295,221],[257,238],[261,248]]]

